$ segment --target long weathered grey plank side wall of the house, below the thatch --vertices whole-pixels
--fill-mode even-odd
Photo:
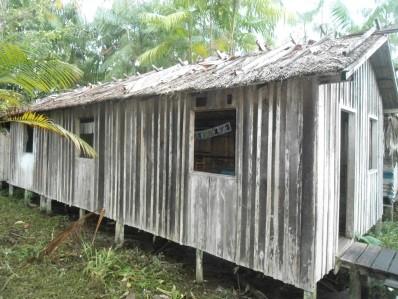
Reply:
[[[314,86],[311,78],[208,93],[207,108],[237,111],[235,176],[193,172],[189,94],[51,112],[75,132],[79,117],[94,117],[99,157],[79,158],[66,141],[36,132],[33,190],[91,211],[105,207],[127,225],[311,289],[315,216],[303,167],[310,174],[314,164]],[[23,187],[20,178],[14,171]]]

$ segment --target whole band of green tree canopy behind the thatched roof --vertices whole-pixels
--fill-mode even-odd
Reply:
[[[109,81],[178,61],[252,52],[272,47],[277,27],[301,28],[295,39],[343,35],[398,24],[398,2],[379,0],[358,23],[341,0],[319,0],[304,13],[279,0],[114,0],[87,22],[81,0],[3,0],[0,39],[29,49],[36,59],[58,59],[83,71],[80,84]],[[326,22],[317,18],[327,9]],[[318,18],[319,19],[319,18]],[[311,36],[315,34],[315,36]],[[391,36],[396,48],[398,36]],[[397,50],[395,49],[395,52]],[[395,55],[398,56],[398,55]]]

